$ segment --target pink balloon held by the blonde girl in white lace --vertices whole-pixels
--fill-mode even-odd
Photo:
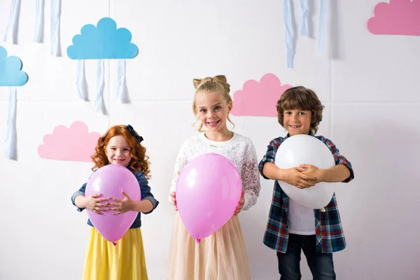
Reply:
[[[216,153],[194,158],[176,183],[176,205],[197,242],[221,228],[241,199],[241,176],[230,160]]]

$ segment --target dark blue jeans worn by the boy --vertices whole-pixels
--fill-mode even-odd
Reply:
[[[317,253],[315,235],[289,235],[286,253],[277,252],[280,280],[300,280],[300,252],[307,258],[314,280],[335,280],[332,253]]]

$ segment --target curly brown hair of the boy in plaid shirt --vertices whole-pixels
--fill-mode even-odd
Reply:
[[[324,106],[321,104],[321,101],[318,99],[313,90],[297,86],[291,87],[281,94],[281,97],[276,104],[276,109],[278,113],[277,118],[279,119],[279,124],[282,127],[284,127],[284,111],[294,109],[311,111],[311,126],[309,127],[309,130],[316,134],[318,131],[318,125],[322,120],[322,111]]]

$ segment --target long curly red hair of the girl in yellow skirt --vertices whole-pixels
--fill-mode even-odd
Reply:
[[[118,135],[123,136],[131,147],[130,155],[132,159],[128,164],[128,167],[130,167],[132,171],[143,172],[146,179],[150,179],[150,162],[148,162],[149,157],[146,155],[146,148],[144,148],[144,146],[137,141],[137,138],[130,133],[126,125],[114,125],[113,127],[110,127],[102,137],[99,137],[97,147],[95,148],[96,153],[91,157],[94,162],[92,170],[94,171],[95,169],[109,165],[109,160],[105,153],[106,146],[112,137]]]

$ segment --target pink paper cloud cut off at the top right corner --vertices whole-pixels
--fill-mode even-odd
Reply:
[[[420,36],[420,0],[378,3],[367,29],[373,34]]]

